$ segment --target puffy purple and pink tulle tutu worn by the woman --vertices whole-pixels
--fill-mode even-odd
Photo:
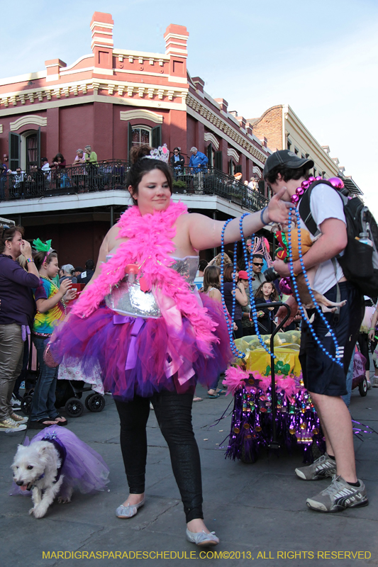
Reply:
[[[217,324],[218,342],[213,342],[211,356],[204,354],[187,318],[172,331],[162,317],[123,317],[104,303],[87,318],[71,314],[55,330],[50,354],[66,366],[79,363],[84,375],[101,369],[104,390],[123,401],[135,395],[150,398],[163,390],[194,391],[197,381],[209,388],[226,370],[231,352],[221,304],[205,294],[201,301]],[[189,376],[185,381],[172,371],[178,366]]]

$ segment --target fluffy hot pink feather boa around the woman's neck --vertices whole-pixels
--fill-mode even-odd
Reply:
[[[84,289],[72,313],[88,317],[123,279],[127,264],[137,264],[148,289],[155,291],[157,301],[162,296],[173,300],[181,315],[191,322],[196,339],[201,342],[201,351],[210,355],[211,344],[218,342],[213,335],[217,324],[207,315],[207,309],[200,305],[189,284],[170,267],[174,264],[169,255],[175,250],[174,223],[184,213],[187,207],[182,203],[170,203],[166,210],[146,215],[141,215],[137,206],[128,208],[118,221],[121,228],[118,238],[128,238],[128,241],[101,266],[101,274]]]

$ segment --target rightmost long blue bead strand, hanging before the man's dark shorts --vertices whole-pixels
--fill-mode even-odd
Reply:
[[[338,341],[336,339],[335,333],[333,332],[333,330],[330,328],[330,325],[328,323],[328,321],[326,320],[326,318],[324,317],[323,313],[321,313],[321,310],[318,306],[318,303],[315,299],[315,296],[313,295],[313,291],[311,290],[311,286],[309,284],[308,281],[308,276],[306,274],[306,269],[304,267],[304,262],[303,262],[303,255],[302,255],[302,249],[301,249],[301,232],[300,232],[300,220],[299,220],[299,212],[296,211],[296,218],[297,218],[297,222],[299,220],[299,224],[297,225],[298,228],[298,249],[299,249],[299,259],[300,259],[300,263],[301,263],[301,269],[304,273],[305,276],[305,281],[306,281],[306,285],[308,288],[308,291],[310,293],[311,299],[313,301],[313,305],[316,307],[316,310],[318,311],[318,313],[321,315],[321,318],[323,319],[323,322],[326,324],[326,327],[328,328],[328,331],[330,332],[330,336],[333,339],[333,342],[335,344],[335,351],[336,351],[336,356],[333,357],[332,354],[330,354],[326,347],[323,346],[323,344],[321,343],[320,339],[318,339],[318,337],[316,336],[316,332],[313,330],[313,326],[311,325],[311,322],[308,320],[308,318],[306,318],[306,312],[304,310],[304,306],[301,304],[301,298],[299,297],[299,291],[298,291],[298,286],[296,285],[296,279],[294,276],[294,265],[293,265],[293,251],[292,251],[292,246],[291,246],[291,211],[293,210],[294,207],[289,208],[289,232],[288,232],[288,242],[289,242],[289,269],[290,269],[290,277],[291,277],[291,282],[293,283],[293,288],[294,288],[294,296],[296,298],[296,302],[298,303],[298,307],[299,310],[301,311],[301,315],[304,318],[304,320],[306,320],[306,323],[308,325],[308,328],[311,332],[311,335],[313,336],[313,339],[316,341],[316,343],[318,344],[318,346],[323,350],[323,352],[327,355],[328,358],[330,358],[333,362],[335,362],[336,364],[338,364],[339,366],[343,366],[343,363],[339,360],[340,358],[340,350],[338,347]]]

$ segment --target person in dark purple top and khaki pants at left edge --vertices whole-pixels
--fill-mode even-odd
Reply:
[[[23,255],[28,271],[16,259]],[[11,396],[23,362],[23,342],[35,314],[32,288],[40,277],[23,228],[0,225],[0,431],[22,431],[27,418],[13,412]]]

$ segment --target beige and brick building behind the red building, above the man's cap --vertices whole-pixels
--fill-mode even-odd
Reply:
[[[253,134],[267,140],[267,146],[273,150],[291,150],[299,157],[311,157],[314,162],[313,175],[328,179],[339,176],[352,193],[362,194],[351,177],[345,177],[344,167],[339,165],[337,157],[330,157],[329,146],[321,146],[307,130],[289,104],[278,104],[268,108],[260,118],[248,120]]]

